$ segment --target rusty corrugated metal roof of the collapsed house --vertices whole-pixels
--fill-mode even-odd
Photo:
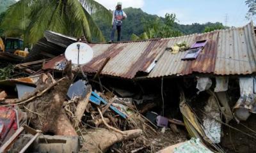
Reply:
[[[193,61],[181,60],[188,51],[172,54],[166,50],[175,43],[186,41],[188,45],[193,45],[199,40],[207,40],[207,44]],[[83,66],[88,73],[95,73],[107,57],[111,57],[111,60],[102,75],[122,78],[137,77],[139,72],[148,78],[192,73],[247,75],[256,72],[256,39],[252,23],[241,28],[178,38],[91,44],[91,47],[94,50],[93,60]],[[60,58],[57,59],[60,61]],[[45,69],[54,68],[53,65],[49,64]]]

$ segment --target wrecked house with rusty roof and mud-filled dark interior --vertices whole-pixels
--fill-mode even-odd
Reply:
[[[65,48],[76,41],[46,31],[19,68],[30,69],[31,75],[51,73],[54,79],[62,78],[68,66]],[[123,143],[113,140],[115,143],[105,147],[104,152],[256,152],[256,37],[252,23],[178,38],[88,45],[93,49],[93,59],[81,69],[93,92],[88,99],[92,108],[86,112],[97,112],[93,105],[110,103],[109,110],[122,119],[129,119],[126,103],[145,116],[157,135],[149,136],[148,146],[141,143],[144,140],[124,140]],[[42,68],[29,66],[28,63],[36,60],[43,63]],[[76,78],[83,78],[83,73],[74,66],[72,73]],[[73,87],[82,84],[77,83],[79,79],[75,80],[74,84],[70,82]],[[103,97],[105,99],[101,99]],[[105,103],[106,99],[110,99],[109,102]],[[123,105],[115,101],[122,101]],[[103,108],[103,112],[108,107]],[[108,123],[115,120],[106,118]],[[81,122],[88,121],[84,116],[81,119]],[[124,130],[126,126],[120,125],[115,128]],[[99,143],[102,150],[103,145],[95,143]],[[193,144],[198,147],[191,147]],[[83,145],[83,149],[84,146],[91,149],[88,145]]]

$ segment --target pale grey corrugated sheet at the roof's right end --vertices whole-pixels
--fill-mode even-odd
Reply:
[[[256,71],[256,40],[253,24],[220,31],[214,74],[248,75]]]

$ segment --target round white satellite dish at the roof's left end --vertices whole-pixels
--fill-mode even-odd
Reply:
[[[65,57],[68,61],[71,61],[72,64],[86,64],[92,60],[93,50],[92,47],[86,43],[72,43],[67,47]]]

